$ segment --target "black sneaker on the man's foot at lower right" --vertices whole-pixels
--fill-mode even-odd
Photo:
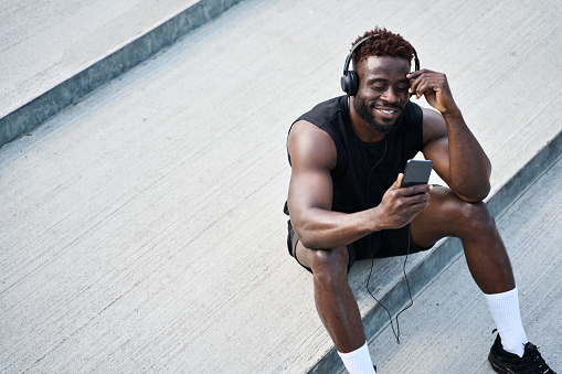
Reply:
[[[544,362],[537,346],[531,343],[524,344],[524,354],[520,357],[517,354],[503,351],[499,334],[490,349],[488,361],[497,373],[556,374]]]

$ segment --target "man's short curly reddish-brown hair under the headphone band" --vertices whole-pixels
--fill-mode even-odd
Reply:
[[[369,38],[375,34],[379,36]],[[384,28],[379,29],[378,26],[374,28],[374,30],[365,32],[362,36],[359,36],[352,43],[352,47],[365,38],[369,39],[353,52],[352,61],[354,68],[370,56],[400,57],[410,63],[414,57],[414,47],[406,42],[402,35],[386,31]]]

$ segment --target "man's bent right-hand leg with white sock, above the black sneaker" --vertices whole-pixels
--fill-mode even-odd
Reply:
[[[430,205],[412,222],[412,239],[418,247],[428,247],[445,236],[460,238],[468,269],[488,300],[503,348],[522,355],[527,336],[513,273],[486,205],[466,203],[450,190],[435,188]]]

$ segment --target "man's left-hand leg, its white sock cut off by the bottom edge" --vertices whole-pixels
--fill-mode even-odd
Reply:
[[[298,242],[296,256],[312,270],[316,309],[348,371],[374,373],[359,307],[348,284],[348,248],[308,249]]]

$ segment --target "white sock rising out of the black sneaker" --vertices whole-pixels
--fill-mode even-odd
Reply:
[[[517,287],[507,292],[484,296],[496,322],[503,350],[522,357],[528,340],[521,323]]]

